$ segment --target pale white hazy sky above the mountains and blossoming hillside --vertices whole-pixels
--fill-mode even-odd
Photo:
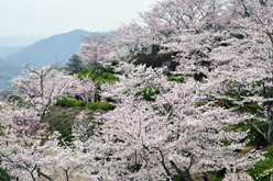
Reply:
[[[110,31],[157,0],[0,0],[0,36]]]

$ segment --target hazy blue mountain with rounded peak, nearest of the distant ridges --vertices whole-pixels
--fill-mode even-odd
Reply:
[[[76,30],[57,34],[39,41],[4,59],[4,65],[31,65],[43,67],[51,63],[67,63],[73,54],[80,52],[80,37],[90,35],[89,32]]]

